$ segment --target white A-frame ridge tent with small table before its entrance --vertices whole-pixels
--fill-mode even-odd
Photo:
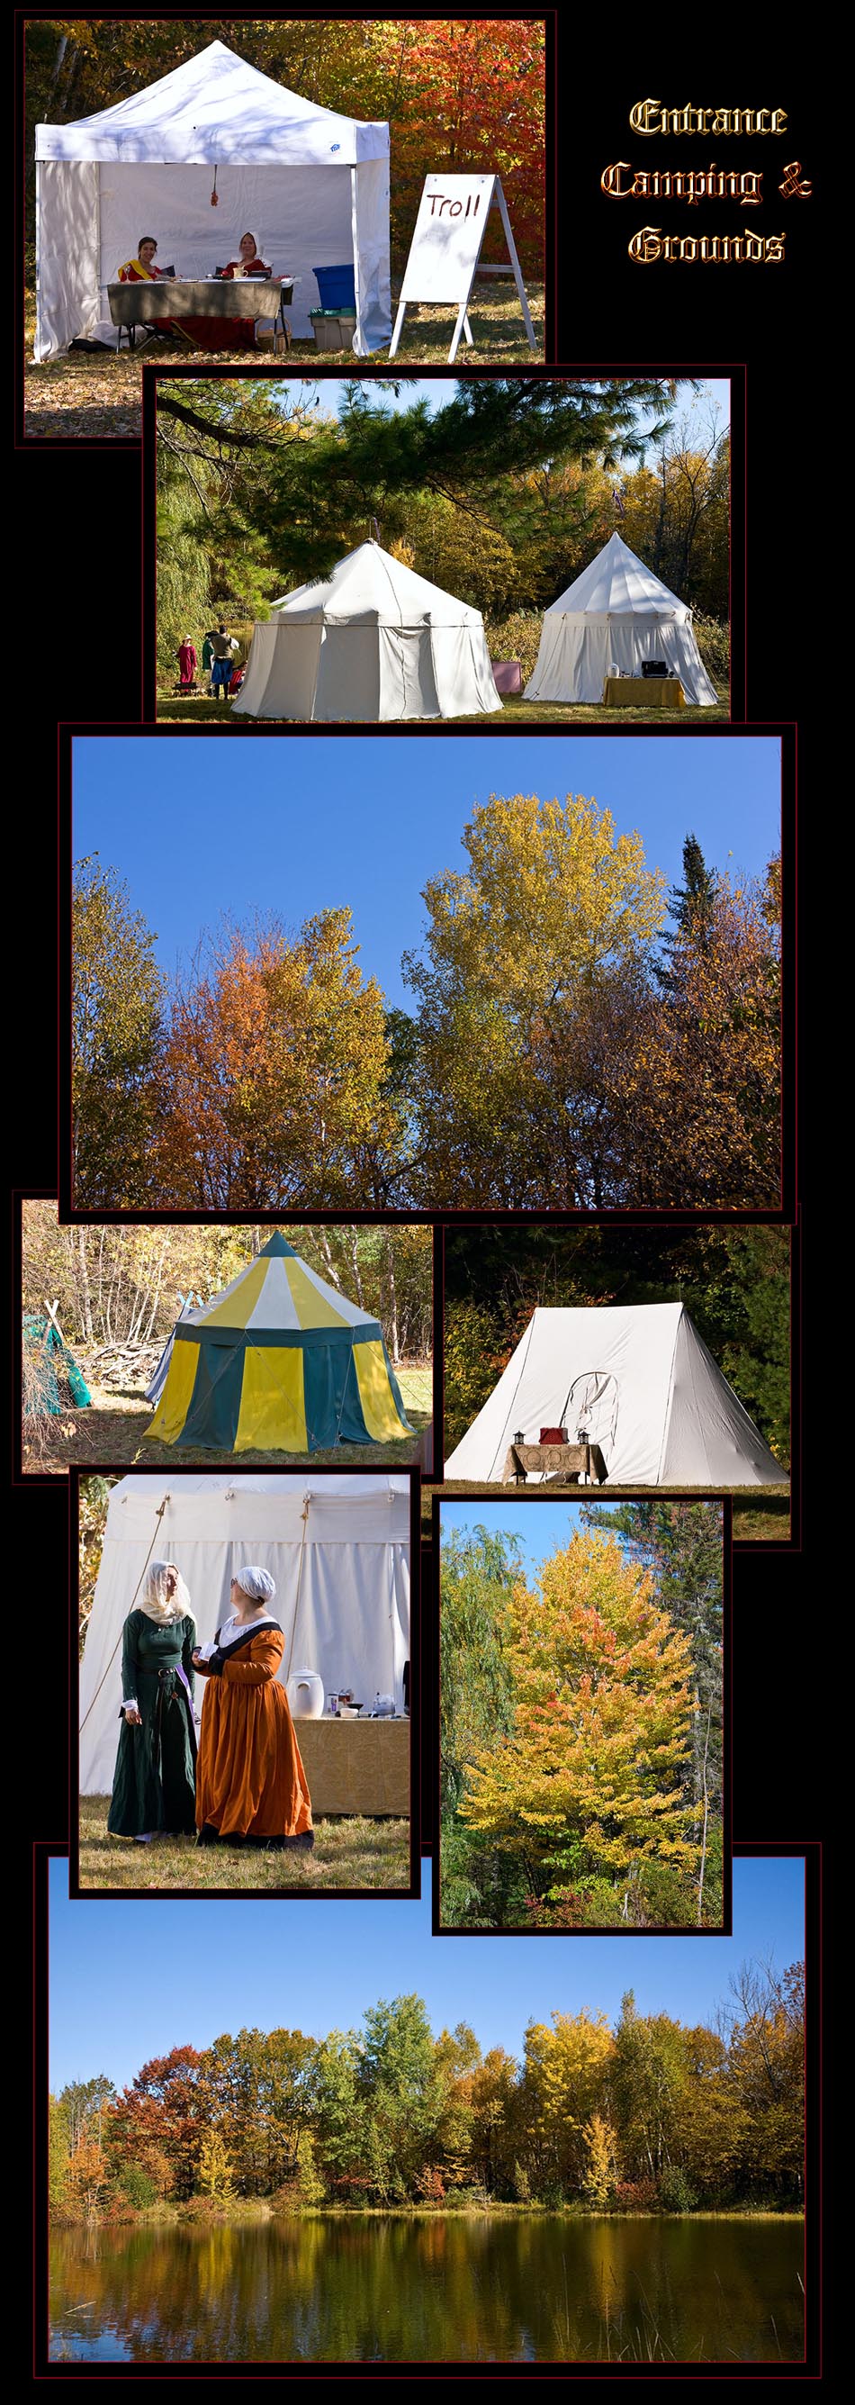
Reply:
[[[536,1311],[447,1479],[502,1479],[514,1436],[540,1429],[584,1429],[615,1486],[785,1484],[682,1304]]]

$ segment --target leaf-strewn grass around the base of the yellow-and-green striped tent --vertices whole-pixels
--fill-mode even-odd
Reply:
[[[24,1472],[46,1477],[46,1472],[62,1472],[72,1465],[94,1469],[96,1462],[113,1467],[113,1462],[125,1462],[127,1469],[137,1465],[142,1469],[159,1469],[171,1465],[173,1469],[214,1467],[214,1462],[235,1462],[238,1469],[317,1469],[324,1462],[334,1469],[406,1469],[418,1462],[418,1433],[427,1426],[432,1417],[432,1368],[403,1368],[399,1371],[399,1388],[403,1397],[406,1417],[415,1436],[401,1436],[399,1443],[389,1445],[336,1445],[331,1453],[209,1453],[199,1445],[180,1448],[161,1445],[156,1438],[147,1438],[151,1426],[151,1402],[147,1402],[142,1388],[127,1388],[125,1392],[106,1392],[94,1385],[86,1373],[86,1361],[77,1356],[86,1376],[91,1392],[91,1407],[84,1412],[60,1412],[58,1419],[41,1421],[38,1438],[26,1438],[24,1431]],[[43,1450],[41,1450],[43,1448]],[[113,1842],[113,1840],[110,1840]]]

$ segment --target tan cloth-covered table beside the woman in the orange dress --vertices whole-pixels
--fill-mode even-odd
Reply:
[[[372,1821],[411,1816],[408,1720],[295,1720],[310,1782],[312,1816],[367,1813]]]

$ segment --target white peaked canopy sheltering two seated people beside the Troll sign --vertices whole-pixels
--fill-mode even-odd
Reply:
[[[36,358],[108,320],[106,286],[142,233],[159,265],[211,277],[245,231],[300,279],[293,334],[319,308],[312,269],[353,260],[353,351],[389,342],[389,125],[303,101],[221,41],[94,118],[36,125]]]

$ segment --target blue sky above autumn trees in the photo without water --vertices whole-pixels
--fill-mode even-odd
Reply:
[[[406,1005],[420,892],[466,868],[464,827],[490,794],[593,796],[620,835],[639,830],[668,885],[689,832],[737,875],[759,875],[781,844],[776,736],[183,734],[74,738],[74,859],[96,851],[120,873],[171,974],[226,909],[295,933],[348,904],[363,974]]]

